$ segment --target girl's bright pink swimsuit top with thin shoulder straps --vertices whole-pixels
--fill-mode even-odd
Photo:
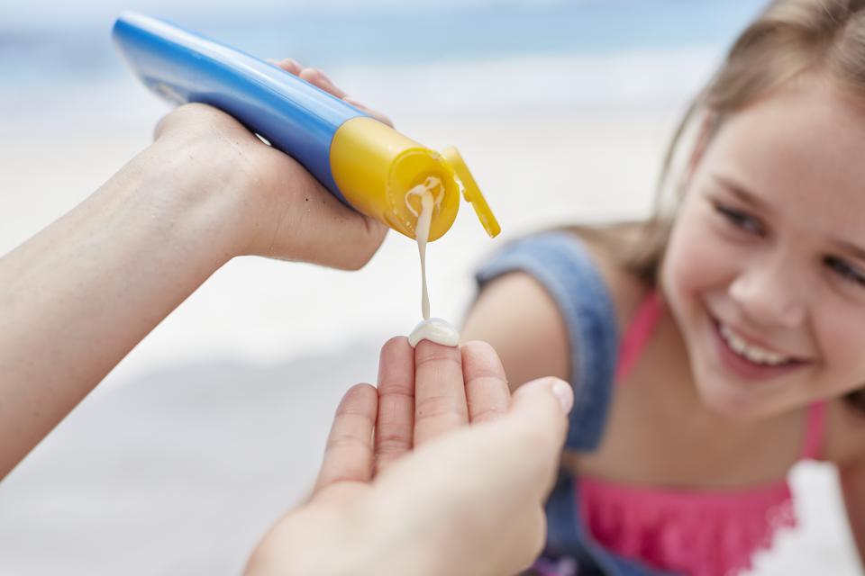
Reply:
[[[621,343],[616,382],[633,367],[663,313],[651,293]],[[803,458],[819,455],[825,404],[808,407]],[[665,571],[729,576],[751,568],[776,530],[796,526],[788,482],[745,490],[671,490],[578,479],[585,526],[607,550]]]

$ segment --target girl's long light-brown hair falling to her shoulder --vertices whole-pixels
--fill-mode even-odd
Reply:
[[[865,105],[865,0],[771,2],[735,40],[679,122],[664,158],[651,218],[574,229],[611,247],[628,270],[655,285],[683,193],[678,166],[694,146],[706,145],[730,114],[806,74],[821,76]],[[687,154],[683,148],[689,148]],[[625,229],[636,233],[623,235]]]

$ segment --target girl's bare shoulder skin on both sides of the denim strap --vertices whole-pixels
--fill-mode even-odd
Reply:
[[[621,329],[644,292],[641,283],[604,247],[584,243],[611,295]],[[515,272],[486,284],[469,310],[462,336],[496,348],[512,389],[542,376],[569,378],[568,329],[551,294],[531,275]]]

